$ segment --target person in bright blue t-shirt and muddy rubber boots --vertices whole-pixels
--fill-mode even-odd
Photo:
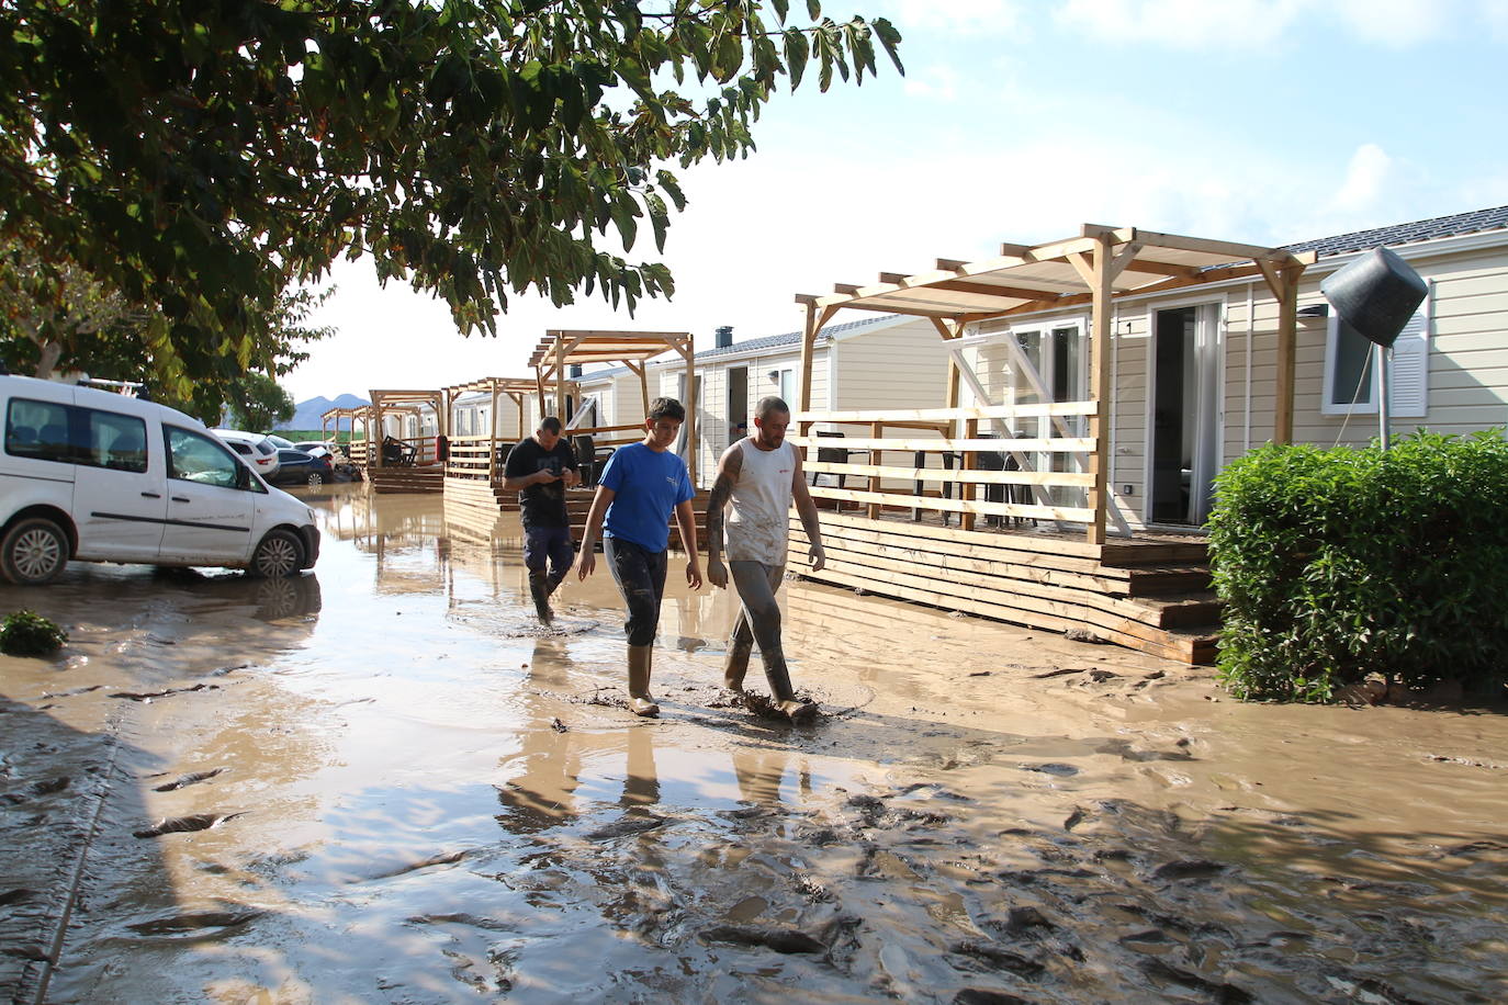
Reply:
[[[576,564],[578,577],[591,576],[597,568],[597,533],[606,526],[602,550],[629,609],[623,630],[629,636],[629,710],[635,716],[659,714],[650,698],[650,661],[665,594],[671,514],[688,557],[686,582],[701,589],[697,515],[691,508],[695,493],[686,463],[670,449],[685,420],[686,410],[674,398],[650,402],[644,440],[614,451],[602,470]]]

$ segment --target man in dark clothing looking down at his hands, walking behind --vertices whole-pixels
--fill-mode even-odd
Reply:
[[[529,570],[529,597],[540,621],[550,622],[550,594],[566,579],[576,553],[570,544],[566,488],[576,476],[576,455],[561,437],[561,420],[546,416],[540,428],[508,452],[504,488],[519,493],[523,518],[523,565]],[[546,564],[549,573],[546,573]]]

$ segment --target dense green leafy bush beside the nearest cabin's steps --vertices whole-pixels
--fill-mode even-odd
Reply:
[[[1469,692],[1508,658],[1508,441],[1419,432],[1265,446],[1215,479],[1218,675],[1238,698],[1324,702],[1371,674]]]

